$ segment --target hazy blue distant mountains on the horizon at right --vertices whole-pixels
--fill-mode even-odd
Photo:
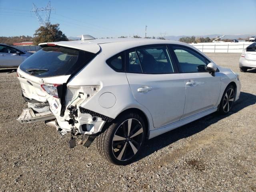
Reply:
[[[165,36],[164,38],[165,39],[168,39],[168,40],[174,40],[174,41],[178,41],[180,38],[182,37],[192,37],[192,35],[181,35],[181,36]],[[209,38],[215,38],[217,36],[223,36],[222,34],[212,34],[212,35],[194,35],[195,37],[209,37]],[[251,36],[254,36],[254,35],[248,35],[248,34],[245,34],[245,35],[225,35],[225,37],[223,39],[238,39],[238,38],[248,38],[248,37],[251,37]]]

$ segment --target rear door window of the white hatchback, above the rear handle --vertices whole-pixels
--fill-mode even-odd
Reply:
[[[138,48],[130,51],[128,54],[127,72],[146,74],[174,72],[166,46]]]

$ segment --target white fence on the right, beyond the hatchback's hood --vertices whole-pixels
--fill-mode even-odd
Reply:
[[[242,53],[242,51],[253,42],[211,42],[211,43],[192,43],[190,45],[202,52],[208,53]]]

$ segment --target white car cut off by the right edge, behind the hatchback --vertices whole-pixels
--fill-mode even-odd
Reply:
[[[241,72],[256,68],[256,42],[250,44],[243,50],[239,59],[239,67]]]

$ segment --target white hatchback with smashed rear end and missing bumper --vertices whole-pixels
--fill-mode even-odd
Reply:
[[[213,112],[227,114],[240,95],[238,74],[196,48],[155,39],[94,39],[40,44],[18,68],[28,102],[17,119],[44,121],[118,165],[146,139]]]

